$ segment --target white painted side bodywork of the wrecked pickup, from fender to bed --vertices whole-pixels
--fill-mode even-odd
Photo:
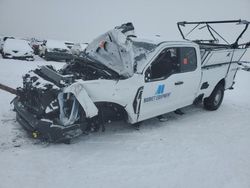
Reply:
[[[147,68],[163,49],[170,47],[194,47],[197,54],[196,70],[172,74],[161,81],[145,82]],[[94,103],[110,102],[119,104],[126,110],[128,122],[136,123],[191,105],[200,94],[208,97],[222,79],[226,80],[226,89],[231,87],[237,71],[237,64],[233,63],[229,68],[229,63],[226,63],[231,60],[238,61],[244,52],[237,50],[235,53],[238,54],[233,59],[232,53],[233,50],[231,49],[213,51],[201,66],[200,49],[197,44],[192,42],[163,42],[159,45],[158,50],[148,58],[148,63],[144,67],[141,66],[132,77],[117,81],[101,79],[81,81],[81,84]],[[217,64],[223,65],[216,66]],[[202,68],[204,66],[208,67]],[[183,84],[176,86],[175,83],[180,81]],[[209,87],[201,90],[201,85],[204,82],[208,82]],[[161,88],[164,96],[158,99],[156,93],[160,85],[164,85],[164,89]],[[140,104],[137,104],[140,105],[138,114],[134,110],[133,102],[140,87],[143,87],[143,92]],[[148,99],[152,101],[147,102]]]

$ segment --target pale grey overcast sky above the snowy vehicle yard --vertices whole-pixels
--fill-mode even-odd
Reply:
[[[250,20],[250,0],[0,0],[0,35],[73,42],[129,21],[137,34],[176,40],[177,21],[239,18]]]

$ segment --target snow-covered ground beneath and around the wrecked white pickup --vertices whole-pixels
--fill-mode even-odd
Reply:
[[[63,65],[0,58],[0,83],[20,86],[22,74],[45,63]],[[70,145],[27,137],[10,105],[14,95],[0,91],[0,188],[249,188],[250,72],[236,81],[218,111],[187,107],[139,131],[112,123]]]

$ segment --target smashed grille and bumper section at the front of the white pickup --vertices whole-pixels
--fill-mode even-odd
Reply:
[[[64,142],[82,133],[77,121],[70,126],[63,126],[59,119],[58,94],[72,79],[45,66],[30,71],[23,77],[23,87],[18,88],[18,96],[13,103],[17,121],[33,137],[50,142]],[[68,103],[71,102],[70,99],[73,100],[73,96],[64,97],[68,97]],[[66,108],[65,105],[65,113]]]

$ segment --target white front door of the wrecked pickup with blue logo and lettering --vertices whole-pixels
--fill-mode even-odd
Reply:
[[[145,71],[138,121],[152,118],[179,106],[182,75],[179,73],[178,48],[166,48]]]

